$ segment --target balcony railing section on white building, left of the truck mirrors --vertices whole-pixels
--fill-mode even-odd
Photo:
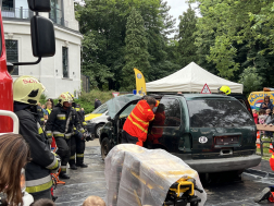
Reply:
[[[15,17],[15,19],[30,19],[34,16],[34,12],[29,9],[23,8],[2,8],[2,17]]]

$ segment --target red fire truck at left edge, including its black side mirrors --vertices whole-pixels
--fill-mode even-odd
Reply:
[[[2,3],[2,1],[0,1]],[[0,14],[0,133],[18,132],[17,117],[13,111],[13,80],[10,72],[14,65],[32,65],[40,62],[41,58],[55,54],[55,36],[53,23],[39,15],[39,12],[50,12],[50,0],[28,0],[28,7],[35,12],[30,20],[30,37],[33,54],[36,62],[7,62],[4,28]]]

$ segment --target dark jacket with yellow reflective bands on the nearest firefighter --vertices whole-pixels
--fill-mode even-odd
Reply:
[[[36,193],[50,190],[52,180],[50,173],[59,168],[55,156],[51,153],[47,138],[29,110],[15,112],[20,120],[20,134],[29,145],[32,161],[26,165],[26,191]]]

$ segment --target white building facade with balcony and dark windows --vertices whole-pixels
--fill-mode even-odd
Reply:
[[[30,17],[27,0],[3,0],[2,19],[8,62],[32,62]],[[22,75],[37,77],[46,87],[48,98],[63,92],[76,97],[80,92],[80,45],[83,36],[74,15],[73,0],[51,0],[51,12],[39,13],[54,23],[55,56],[43,58],[36,65],[20,65],[13,80]]]

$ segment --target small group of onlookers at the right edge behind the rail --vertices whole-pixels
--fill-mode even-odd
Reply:
[[[270,100],[270,96],[264,97],[264,101],[261,104],[259,112],[257,112],[256,109],[252,109],[252,113],[256,124],[272,126],[274,123],[274,111],[273,104]],[[263,134],[262,138],[273,137],[273,132],[261,132]]]

